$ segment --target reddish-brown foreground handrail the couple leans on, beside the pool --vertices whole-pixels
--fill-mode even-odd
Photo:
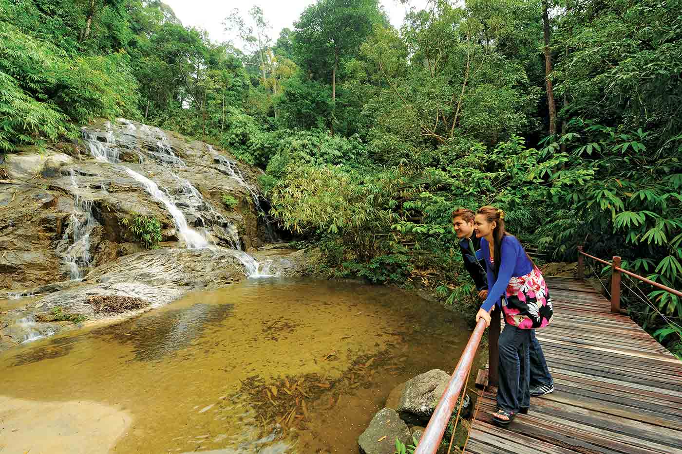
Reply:
[[[499,327],[499,325],[498,321],[497,326]],[[486,321],[481,319],[476,324],[473,333],[471,333],[469,342],[464,347],[464,352],[462,352],[460,361],[457,363],[457,367],[455,367],[447,387],[445,387],[441,400],[438,406],[436,406],[436,410],[434,410],[419,443],[417,443],[415,454],[434,454],[438,451],[443,434],[445,434],[445,428],[450,421],[452,410],[454,410],[457,404],[457,398],[462,393],[466,377],[471,372],[471,364],[476,356],[476,350],[478,349],[478,344],[481,343],[481,336],[484,331],[486,331]]]

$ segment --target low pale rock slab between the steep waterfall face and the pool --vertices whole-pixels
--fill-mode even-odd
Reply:
[[[246,277],[239,254],[243,252],[222,248],[164,248],[123,256],[93,269],[83,282],[63,283],[63,290],[57,290],[59,286],[55,285],[53,292],[31,307],[3,314],[0,337],[9,335],[13,342],[23,342],[27,335],[52,335],[72,327],[68,323],[40,323],[53,320],[50,316],[55,307],[61,308],[64,314],[98,320],[122,312],[135,313],[144,307],[158,307],[192,290],[238,282]],[[42,289],[50,290],[49,286]]]

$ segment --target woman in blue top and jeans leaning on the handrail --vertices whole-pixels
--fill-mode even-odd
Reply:
[[[529,344],[535,328],[552,321],[552,300],[540,270],[516,237],[505,231],[505,212],[481,207],[476,212],[476,236],[488,268],[488,297],[476,322],[483,318],[490,326],[490,309],[500,304],[505,328],[500,334],[497,412],[492,419],[509,425],[518,412],[531,405],[529,392]]]

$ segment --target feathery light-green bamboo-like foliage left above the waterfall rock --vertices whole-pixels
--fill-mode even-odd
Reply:
[[[78,134],[94,117],[136,117],[125,53],[71,57],[0,20],[0,149]]]

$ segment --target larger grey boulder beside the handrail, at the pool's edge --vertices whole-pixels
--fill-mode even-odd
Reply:
[[[398,403],[398,414],[410,425],[426,425],[438,404],[450,376],[441,369],[432,369],[405,383]]]

